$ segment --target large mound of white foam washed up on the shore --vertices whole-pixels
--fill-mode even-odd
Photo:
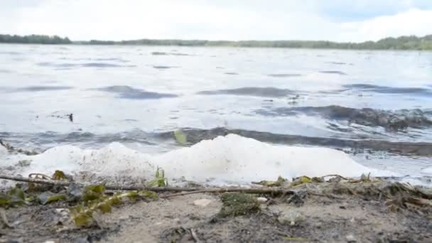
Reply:
[[[158,155],[148,155],[114,143],[95,150],[58,146],[26,159],[32,162],[21,171],[22,175],[62,170],[66,173],[90,171],[99,175],[151,178],[158,166],[166,171],[168,178],[184,177],[197,182],[214,178],[217,183],[274,180],[279,175],[284,178],[328,174],[360,176],[362,173],[394,175],[362,166],[342,151],[276,146],[234,134]]]

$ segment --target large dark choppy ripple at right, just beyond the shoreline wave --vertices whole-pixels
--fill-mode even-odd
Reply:
[[[332,105],[328,107],[278,107],[274,109],[258,109],[255,112],[265,116],[282,117],[295,116],[296,114],[320,115],[327,119],[346,120],[362,126],[382,126],[391,130],[432,126],[432,121],[420,109],[386,111]]]

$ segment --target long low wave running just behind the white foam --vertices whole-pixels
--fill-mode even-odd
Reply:
[[[227,129],[217,127],[214,129],[184,128],[188,143],[198,144],[200,141],[215,139],[217,136],[237,134],[239,136],[256,139],[261,142],[282,145],[323,146],[336,149],[354,149],[356,153],[369,151],[384,151],[401,156],[432,156],[432,143],[426,142],[399,142],[374,139],[340,139],[331,137],[299,136],[290,134],[274,134],[266,131],[251,131],[244,129]],[[110,143],[146,144],[163,147],[162,150],[173,148],[173,131],[161,133],[148,133],[141,130],[124,131],[114,134],[92,134],[75,131],[68,134],[59,134],[47,131],[38,134],[16,134],[0,132],[0,139],[4,139],[13,146],[20,148],[37,148],[43,151],[57,144],[85,144],[92,148],[100,148]],[[168,143],[166,143],[168,141]],[[30,146],[30,147],[29,147]],[[363,151],[363,152],[360,152]]]

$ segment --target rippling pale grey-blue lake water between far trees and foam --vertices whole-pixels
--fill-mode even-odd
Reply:
[[[183,129],[190,145],[234,133],[432,176],[431,52],[0,45],[0,111],[0,139],[36,151],[160,154]]]

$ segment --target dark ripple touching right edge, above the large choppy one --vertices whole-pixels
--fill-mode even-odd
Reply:
[[[432,90],[421,88],[421,87],[387,87],[379,85],[367,85],[367,84],[353,84],[343,85],[348,89],[362,90],[368,92],[377,92],[382,94],[420,94],[420,95],[432,95]]]

